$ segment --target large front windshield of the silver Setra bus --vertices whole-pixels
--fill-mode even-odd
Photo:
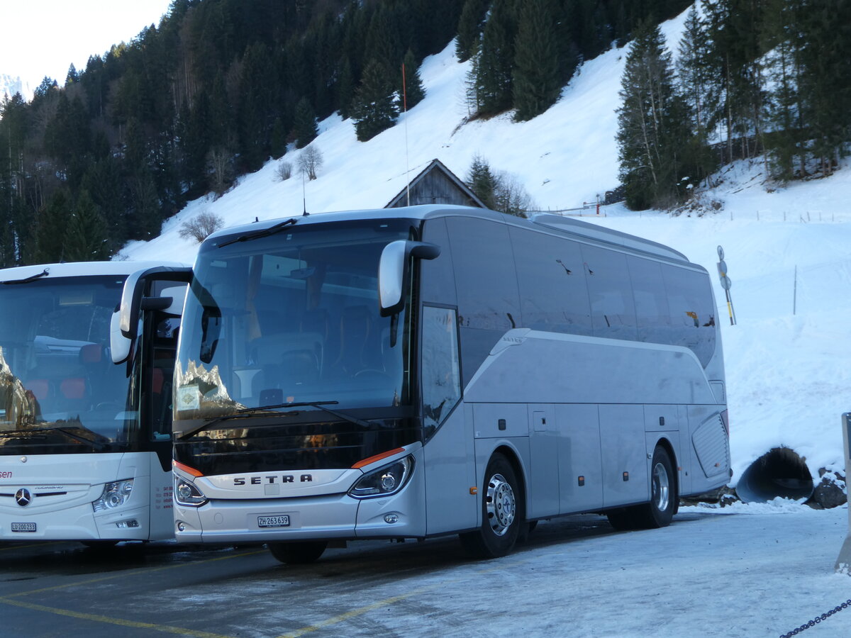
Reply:
[[[208,242],[186,299],[175,421],[408,404],[408,310],[380,316],[378,269],[410,235],[407,220],[360,219]]]

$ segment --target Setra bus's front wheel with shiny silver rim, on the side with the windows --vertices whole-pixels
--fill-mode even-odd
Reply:
[[[482,527],[460,534],[461,545],[475,558],[507,555],[517,543],[526,506],[514,468],[502,454],[494,454],[485,470]]]

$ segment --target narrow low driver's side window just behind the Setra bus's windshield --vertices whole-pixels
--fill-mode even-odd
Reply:
[[[423,424],[431,436],[461,398],[458,315],[452,308],[423,306],[421,379]]]

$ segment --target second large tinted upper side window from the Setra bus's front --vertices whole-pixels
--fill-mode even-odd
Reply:
[[[511,229],[523,327],[591,334],[591,310],[579,245],[543,233]]]

